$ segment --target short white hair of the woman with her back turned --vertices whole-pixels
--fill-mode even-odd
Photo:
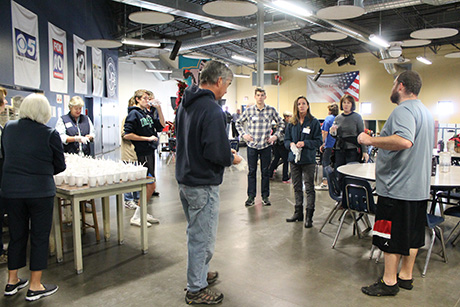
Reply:
[[[28,118],[40,124],[46,124],[51,118],[51,106],[41,94],[30,94],[21,103],[19,118]]]

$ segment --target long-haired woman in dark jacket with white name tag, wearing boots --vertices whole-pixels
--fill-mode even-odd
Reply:
[[[291,178],[294,186],[294,215],[286,222],[303,221],[303,186],[307,194],[305,228],[313,226],[315,211],[315,166],[316,151],[321,146],[321,127],[319,121],[311,115],[310,103],[304,96],[294,101],[294,112],[286,128],[284,146],[290,149]]]

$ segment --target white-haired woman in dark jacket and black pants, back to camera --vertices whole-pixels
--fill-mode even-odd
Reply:
[[[26,300],[35,301],[58,290],[41,283],[48,265],[48,247],[56,186],[53,175],[65,170],[59,133],[45,124],[51,107],[45,96],[27,96],[19,120],[9,121],[2,134],[4,157],[2,194],[9,215],[8,284],[5,295],[15,295],[29,280],[18,277],[26,265],[30,232],[30,285]],[[30,229],[29,229],[30,225]]]

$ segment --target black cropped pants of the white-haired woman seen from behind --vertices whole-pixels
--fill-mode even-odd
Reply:
[[[4,200],[8,210],[10,227],[8,269],[17,270],[26,266],[29,233],[30,270],[46,269],[48,267],[54,197],[5,198]]]

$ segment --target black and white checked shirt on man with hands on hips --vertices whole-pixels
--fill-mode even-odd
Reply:
[[[284,131],[285,124],[276,109],[265,105],[259,110],[257,105],[253,105],[244,110],[241,118],[236,122],[236,129],[241,136],[243,134],[252,136],[253,141],[247,142],[249,147],[264,149],[271,145],[268,143],[268,139],[271,136],[272,122],[275,122],[279,126],[279,129],[274,134],[279,138],[280,132]],[[244,127],[246,127],[246,130]]]

